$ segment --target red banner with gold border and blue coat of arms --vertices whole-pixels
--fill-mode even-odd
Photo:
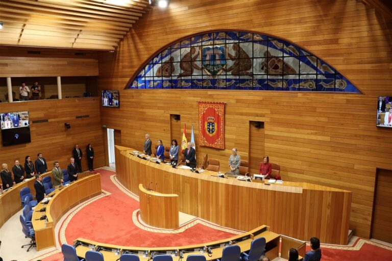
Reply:
[[[199,145],[225,148],[225,103],[199,101]]]

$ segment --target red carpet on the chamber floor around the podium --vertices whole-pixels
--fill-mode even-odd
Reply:
[[[82,208],[65,229],[68,244],[77,238],[97,242],[141,247],[164,247],[199,244],[233,236],[202,224],[194,225],[181,233],[167,234],[145,231],[132,221],[132,213],[139,208],[139,202],[121,192],[110,180],[114,172],[99,170],[102,189],[111,195],[98,199]],[[307,251],[309,247],[307,247]],[[358,239],[352,247],[331,249],[322,246],[323,261],[328,260],[392,260],[391,248],[369,244]],[[36,260],[35,258],[34,260]],[[63,260],[61,253],[41,258],[43,261]]]

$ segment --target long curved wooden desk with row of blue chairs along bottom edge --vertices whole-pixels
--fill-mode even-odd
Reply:
[[[76,253],[80,257],[85,257],[86,252],[89,250],[99,251],[104,255],[105,261],[115,261],[119,258],[116,252],[118,251],[120,254],[124,253],[124,251],[131,251],[139,256],[141,261],[148,261],[152,258],[152,255],[155,253],[158,254],[171,254],[172,256],[179,258],[179,251],[183,251],[183,260],[186,260],[188,255],[193,254],[201,254],[206,257],[207,260],[214,260],[216,258],[222,257],[223,249],[230,245],[235,244],[238,245],[241,249],[241,252],[249,251],[251,248],[251,242],[255,238],[264,237],[266,240],[266,255],[272,260],[275,257],[279,256],[279,234],[269,231],[269,227],[260,226],[252,231],[242,233],[236,235],[231,238],[213,241],[208,243],[203,243],[199,245],[189,245],[189,246],[173,246],[173,247],[153,247],[153,248],[141,248],[141,247],[129,247],[129,246],[118,246],[118,245],[110,245],[110,244],[102,244],[99,242],[86,240],[79,238],[74,241],[75,243],[81,243],[82,245],[78,245],[76,247]],[[212,254],[208,254],[205,252],[206,247],[211,247]]]

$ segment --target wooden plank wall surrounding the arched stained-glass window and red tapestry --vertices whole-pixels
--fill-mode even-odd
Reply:
[[[283,178],[353,191],[350,228],[370,237],[376,168],[392,169],[391,130],[375,126],[376,96],[392,96],[391,24],[356,0],[173,0],[166,11],[154,8],[143,16],[116,53],[100,54],[99,89],[123,89],[149,57],[177,39],[222,29],[292,41],[334,66],[363,95],[126,90],[120,109],[102,108],[102,123],[121,129],[124,146],[140,149],[145,133],[167,144],[169,114],[181,114],[188,133],[195,124],[197,136],[196,102],[227,102],[226,149],[198,146],[199,162],[208,153],[227,170],[233,147],[249,159],[249,121],[263,121],[264,153],[281,165]],[[125,115],[132,117],[125,121]]]

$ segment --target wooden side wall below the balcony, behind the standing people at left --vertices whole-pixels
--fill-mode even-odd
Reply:
[[[37,100],[0,103],[0,112],[29,111],[31,143],[3,147],[0,137],[1,163],[7,163],[9,169],[15,160],[24,164],[24,157],[30,155],[37,159],[41,152],[46,159],[48,170],[53,169],[53,162],[58,161],[61,168],[66,168],[72,149],[79,144],[82,149],[82,169],[87,170],[86,146],[94,147],[94,167],[105,165],[103,129],[100,118],[100,101],[96,98],[69,98],[63,100]],[[76,119],[76,116],[89,115],[88,118]],[[48,122],[32,123],[47,119]],[[65,128],[64,123],[71,125]]]

